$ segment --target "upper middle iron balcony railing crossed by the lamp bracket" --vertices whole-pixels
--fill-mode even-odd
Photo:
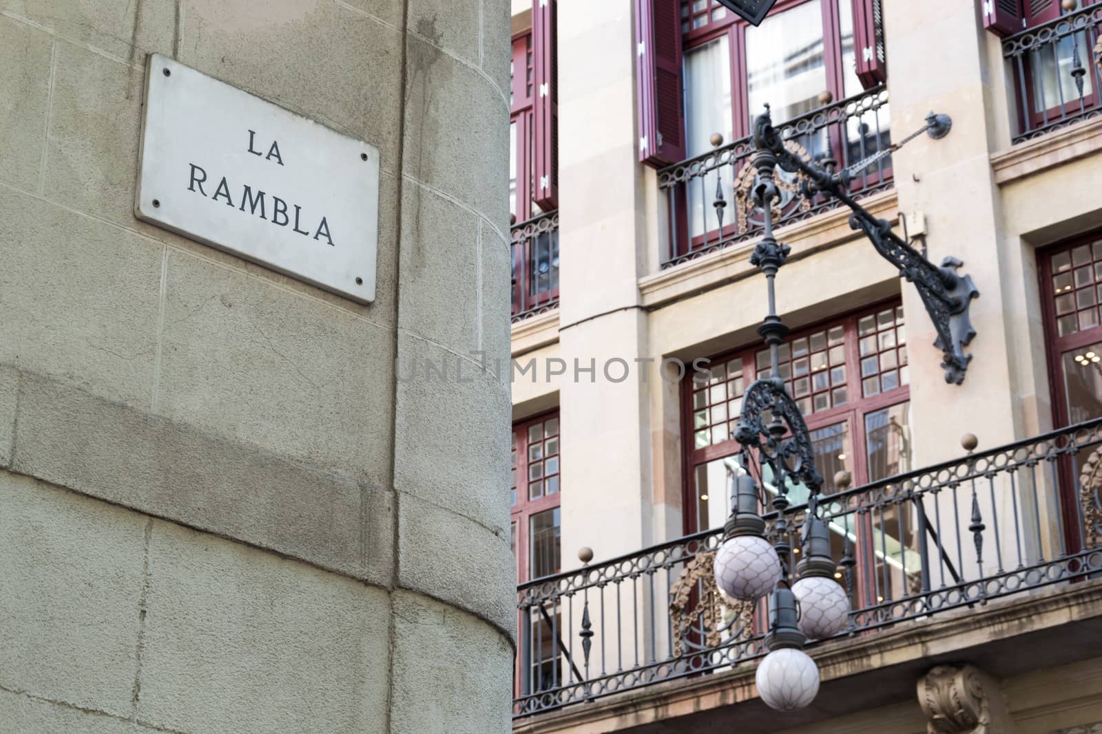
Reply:
[[[798,155],[835,171],[850,168],[852,193],[858,198],[892,187],[888,92],[883,86],[821,107],[779,125],[779,130],[786,145]],[[749,207],[753,152],[747,136],[658,173],[670,222],[670,248],[662,269],[761,233],[760,216]],[[862,162],[868,163],[854,167]],[[804,196],[802,176],[777,173],[782,199],[775,206],[774,226],[809,219],[839,206],[822,194]]]

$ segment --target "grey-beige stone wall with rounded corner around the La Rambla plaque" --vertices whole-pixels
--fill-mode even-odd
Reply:
[[[0,3],[0,730],[507,731],[508,33]],[[150,53],[379,150],[372,305],[134,218]]]

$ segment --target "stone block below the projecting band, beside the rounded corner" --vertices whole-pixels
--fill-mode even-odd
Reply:
[[[158,522],[139,719],[172,731],[386,731],[389,599]]]

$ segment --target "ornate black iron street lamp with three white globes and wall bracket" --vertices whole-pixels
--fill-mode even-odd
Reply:
[[[934,139],[943,138],[950,125],[948,117],[931,113],[926,128],[892,150],[898,150],[922,132],[929,132]],[[773,128],[768,108],[755,121],[754,149],[750,164],[756,169],[756,177],[750,198],[761,212],[763,233],[750,263],[766,276],[768,314],[758,333],[769,348],[770,370],[769,375],[752,384],[743,397],[734,438],[742,447],[741,464],[745,471],[732,482],[731,517],[724,526],[724,539],[715,555],[713,570],[716,584],[732,598],[758,600],[771,592],[769,633],[765,638],[769,653],[758,666],[756,681],[766,704],[793,711],[811,703],[819,691],[819,669],[803,653],[804,642],[842,632],[851,610],[849,593],[835,581],[830,528],[819,517],[819,492],[823,480],[815,470],[811,436],[780,376],[779,348],[788,335],[788,327],[777,315],[776,276],[790,250],[778,242],[773,232],[773,206],[780,198],[776,168],[780,166],[806,176],[810,185],[804,186],[804,195],[825,193],[853,209],[852,226],[862,229],[876,250],[908,281],[916,283],[938,331],[937,346],[944,352],[942,366],[948,382],[960,384],[964,379],[971,355],[965,355],[962,348],[975,333],[969,322],[968,308],[979,293],[970,277],[957,274],[960,261],[947,259],[941,267],[936,267],[896,237],[890,223],[875,219],[850,196],[850,172],[862,169],[868,165],[867,161],[839,174],[830,167],[803,161],[785,146],[781,135]],[[763,486],[750,473],[753,463],[757,465],[761,484],[769,485],[769,504],[776,511],[773,543],[766,538],[766,522],[759,514],[766,497]],[[789,491],[799,485],[807,490],[809,499],[801,548],[797,550],[802,551],[802,560],[793,573],[786,511],[790,504]],[[795,583],[791,583],[793,578]]]

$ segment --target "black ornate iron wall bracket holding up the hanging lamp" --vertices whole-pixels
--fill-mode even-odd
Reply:
[[[890,150],[898,150],[923,132],[934,140],[940,140],[949,134],[952,127],[949,116],[932,112],[926,119],[926,123],[922,130],[893,145]],[[946,258],[939,267],[927,260],[922,253],[892,231],[890,222],[877,219],[853,198],[850,194],[850,183],[854,166],[835,174],[830,166],[822,167],[795,155],[785,146],[781,135],[773,127],[768,109],[755,121],[754,145],[759,151],[771,152],[785,171],[803,173],[809,179],[806,196],[821,191],[853,210],[850,226],[862,230],[876,251],[918,288],[922,304],[938,332],[933,346],[942,351],[941,366],[946,371],[946,382],[955,385],[964,382],[964,373],[972,360],[971,354],[964,353],[964,347],[975,337],[975,329],[972,328],[969,318],[969,307],[972,299],[980,296],[980,292],[972,283],[971,276],[957,272],[963,263],[955,258]],[[857,165],[864,167],[866,162]]]

